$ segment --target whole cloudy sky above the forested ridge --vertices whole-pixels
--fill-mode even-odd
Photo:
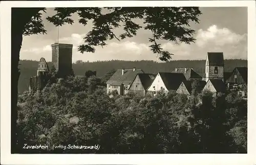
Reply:
[[[205,60],[207,52],[223,52],[224,59],[247,60],[247,8],[246,7],[202,7],[199,23],[190,23],[195,30],[195,43],[175,44],[161,41],[163,50],[174,53],[173,60]],[[54,15],[53,8],[48,8],[42,18],[47,34],[24,36],[20,60],[36,60],[41,57],[51,61],[51,44],[57,42],[58,28],[46,20]],[[83,44],[83,37],[91,30],[92,23],[83,26],[78,23],[78,15],[72,15],[75,23],[59,27],[59,43],[73,44],[73,63],[82,61],[109,60],[154,60],[160,62],[148,45],[151,32],[139,30],[137,36],[122,41],[111,40],[108,45],[96,47],[95,53],[77,51],[77,46]],[[139,20],[140,21],[140,20]],[[122,33],[122,28],[115,31]]]

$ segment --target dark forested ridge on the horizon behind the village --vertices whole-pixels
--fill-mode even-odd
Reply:
[[[37,61],[22,60],[20,61],[20,77],[18,81],[18,92],[23,93],[29,89],[29,78],[36,75]],[[51,62],[48,63],[52,66]],[[247,60],[225,60],[225,71],[232,71],[235,67],[247,67]],[[175,68],[188,67],[193,68],[201,76],[205,72],[205,60],[182,60],[170,61],[167,63],[157,63],[155,61],[98,61],[98,62],[78,62],[73,64],[75,75],[84,75],[87,70],[97,72],[98,77],[102,77],[113,69],[140,68],[146,73],[170,72]]]

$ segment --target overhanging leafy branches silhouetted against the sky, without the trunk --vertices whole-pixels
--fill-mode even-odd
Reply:
[[[38,8],[46,12],[45,8]],[[198,7],[115,7],[115,8],[55,8],[56,14],[48,16],[47,20],[55,26],[73,24],[72,14],[77,13],[78,22],[86,26],[89,20],[93,22],[92,30],[84,37],[84,44],[78,46],[78,51],[95,52],[95,46],[105,46],[106,41],[117,39],[118,41],[137,35],[141,28],[150,30],[153,34],[148,41],[151,50],[159,54],[161,61],[168,61],[171,55],[161,48],[158,40],[185,42],[190,44],[195,41],[194,30],[189,28],[190,22],[199,23],[201,11]],[[102,12],[104,10],[104,12]],[[41,13],[33,15],[31,21],[26,24],[24,35],[46,34],[42,23]],[[143,25],[136,23],[135,19],[143,20]],[[124,30],[116,36],[114,30]]]

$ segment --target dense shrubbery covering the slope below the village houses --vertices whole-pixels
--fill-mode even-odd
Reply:
[[[18,144],[100,145],[99,150],[24,153],[246,153],[247,101],[235,93],[190,98],[109,97],[101,79],[69,77],[20,96]]]

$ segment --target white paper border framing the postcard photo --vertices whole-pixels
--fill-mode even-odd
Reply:
[[[12,7],[247,7],[247,154],[11,154]],[[255,1],[2,1],[1,2],[1,164],[255,164],[256,12]],[[209,142],[210,143],[210,142]]]

